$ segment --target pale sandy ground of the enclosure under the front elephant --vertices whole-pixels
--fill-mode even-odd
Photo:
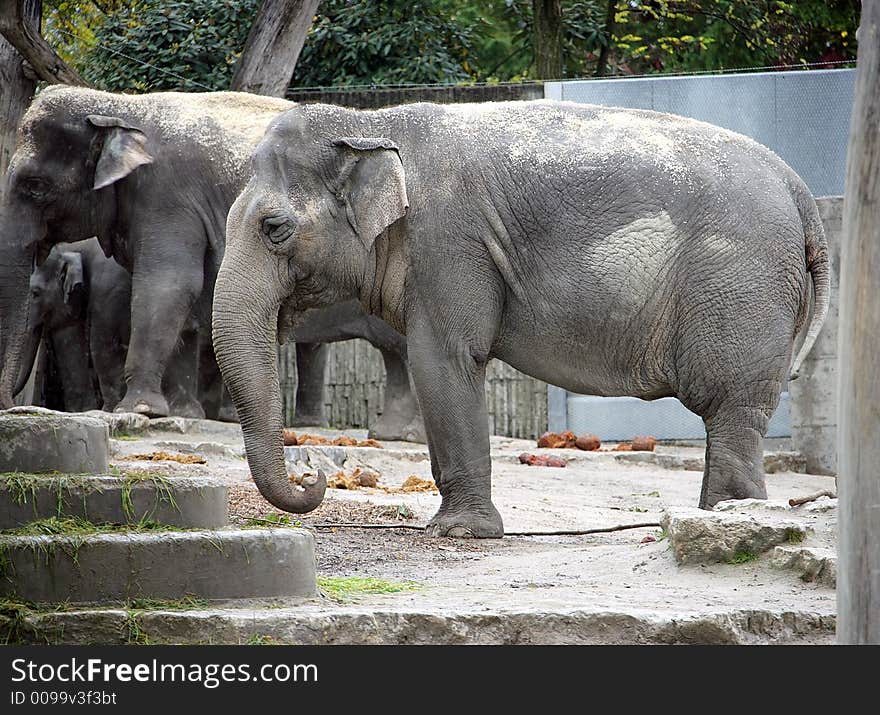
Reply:
[[[309,430],[338,435],[328,430]],[[363,431],[348,432],[363,439]],[[440,503],[433,493],[397,493],[411,475],[430,479],[423,445],[389,443],[385,449],[349,448],[345,463],[379,474],[385,490],[329,489],[315,512],[293,516],[313,528],[321,575],[374,576],[419,584],[414,591],[364,596],[382,608],[498,608],[639,610],[656,614],[718,613],[742,609],[833,614],[833,589],[805,583],[770,565],[769,557],[740,565],[679,566],[661,530],[648,527],[585,536],[524,536],[500,540],[432,539],[406,529],[315,528],[328,522],[424,524]],[[206,464],[115,461],[121,469],[219,476],[230,484],[230,517],[266,519],[273,508],[259,495],[243,459],[235,425],[201,423],[187,434],[153,433],[113,440],[114,459],[154,449],[200,454]],[[523,451],[572,458],[565,468],[521,465]],[[660,446],[658,454],[698,459],[700,447]],[[658,522],[665,507],[696,506],[702,474],[656,464],[620,461],[613,453],[537,450],[533,442],[492,438],[493,499],[507,531],[590,529]],[[628,458],[629,459],[629,458]],[[781,472],[767,477],[771,500],[833,489],[828,477]],[[792,516],[806,522],[819,517]],[[269,517],[271,518],[271,517]],[[821,517],[815,534],[833,546],[836,513]],[[653,537],[643,543],[645,537]],[[320,604],[307,606],[320,609]]]

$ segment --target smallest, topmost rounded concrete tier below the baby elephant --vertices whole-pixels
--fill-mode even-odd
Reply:
[[[105,422],[42,407],[0,412],[0,473],[101,474],[108,469]]]

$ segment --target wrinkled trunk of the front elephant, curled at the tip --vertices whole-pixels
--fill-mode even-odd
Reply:
[[[327,482],[319,473],[298,487],[287,475],[275,352],[280,298],[256,287],[263,282],[224,260],[214,288],[214,352],[238,412],[254,482],[274,506],[301,514],[321,503]]]

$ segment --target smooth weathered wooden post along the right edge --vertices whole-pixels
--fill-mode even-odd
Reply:
[[[880,0],[864,0],[840,259],[837,640],[880,644]]]

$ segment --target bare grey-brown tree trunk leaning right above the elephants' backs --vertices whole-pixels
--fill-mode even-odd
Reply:
[[[283,97],[320,0],[263,0],[235,68],[232,89]]]

